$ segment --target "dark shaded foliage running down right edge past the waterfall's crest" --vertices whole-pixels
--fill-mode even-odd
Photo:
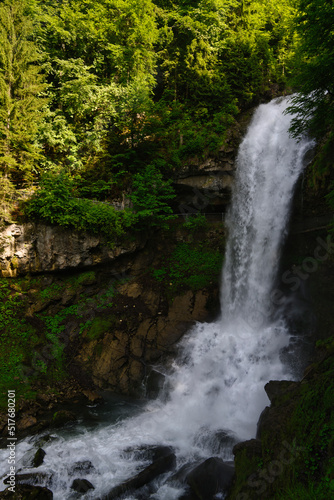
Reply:
[[[331,0],[299,0],[294,60],[291,131],[312,134],[318,141],[313,184],[321,187],[334,210],[334,5]],[[334,226],[332,225],[332,232]]]

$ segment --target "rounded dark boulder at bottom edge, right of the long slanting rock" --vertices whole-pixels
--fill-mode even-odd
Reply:
[[[216,493],[226,493],[232,484],[234,467],[220,458],[208,458],[187,475],[187,483],[198,500],[212,500]]]

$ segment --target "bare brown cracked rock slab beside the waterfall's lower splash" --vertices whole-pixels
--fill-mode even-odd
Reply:
[[[165,305],[163,312],[159,310],[159,294],[141,289],[139,283],[124,285],[122,292],[123,297],[135,300],[124,301],[124,313],[117,314],[102,338],[89,340],[84,336],[75,362],[88,369],[98,387],[134,394],[149,375],[150,365],[174,354],[176,343],[195,321],[209,317],[207,305],[213,292],[188,291],[175,297],[167,309]]]

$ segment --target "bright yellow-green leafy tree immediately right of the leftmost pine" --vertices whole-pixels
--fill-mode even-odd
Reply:
[[[50,112],[48,167],[110,167],[140,140],[155,85],[158,31],[151,0],[64,0],[45,6]]]

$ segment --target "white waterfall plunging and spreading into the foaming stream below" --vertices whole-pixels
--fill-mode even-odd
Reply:
[[[43,446],[46,456],[38,471],[53,474],[50,488],[55,500],[71,498],[69,471],[73,463],[85,460],[94,466],[89,480],[96,489],[84,498],[107,494],[147,465],[126,451],[141,445],[172,446],[178,466],[213,455],[231,459],[233,443],[255,434],[268,402],[265,383],[292,376],[280,359],[289,333],[283,319],[273,314],[277,308],[272,289],[293,188],[312,142],[297,143],[289,137],[290,118],[283,113],[287,104],[287,99],[278,99],[261,105],[240,146],[227,218],[221,317],[198,324],[183,339],[168,391],[160,399],[135,416],[59,434]],[[20,443],[18,457],[29,448],[28,441]],[[4,464],[5,451],[0,458]],[[157,482],[149,498],[179,498],[182,489],[165,479]]]

